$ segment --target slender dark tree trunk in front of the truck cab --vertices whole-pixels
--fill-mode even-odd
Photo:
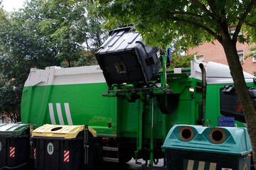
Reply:
[[[238,98],[242,106],[242,111],[245,115],[247,130],[249,132],[250,141],[252,143],[253,161],[256,163],[256,111],[247,85],[245,84],[244,75],[242,73],[242,66],[240,64],[238,52],[236,49],[236,41],[230,38],[229,33],[224,32],[225,31],[221,32],[221,44],[223,45],[225,55],[228,60],[228,65],[230,67],[230,74],[233,77],[234,86],[238,92]]]

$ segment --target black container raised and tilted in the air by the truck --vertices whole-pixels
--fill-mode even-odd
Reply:
[[[142,36],[131,27],[112,30],[96,58],[108,86],[147,83],[161,69],[160,50],[144,45]]]

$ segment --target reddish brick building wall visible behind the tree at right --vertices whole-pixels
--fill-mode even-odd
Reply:
[[[204,62],[218,62],[228,65],[223,47],[217,40],[214,41],[214,44],[215,45],[211,42],[205,42],[193,49],[189,48],[187,54],[191,55],[198,52],[197,55],[203,55]],[[250,50],[248,50],[247,47],[247,44],[237,44],[237,50],[244,50],[244,56],[250,54]],[[256,72],[256,62],[252,62],[252,57],[248,57],[244,64],[242,64],[242,68],[244,72],[252,74],[252,72]]]

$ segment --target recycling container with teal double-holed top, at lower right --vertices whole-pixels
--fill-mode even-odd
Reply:
[[[169,170],[250,169],[252,147],[246,128],[174,125],[162,148]]]

